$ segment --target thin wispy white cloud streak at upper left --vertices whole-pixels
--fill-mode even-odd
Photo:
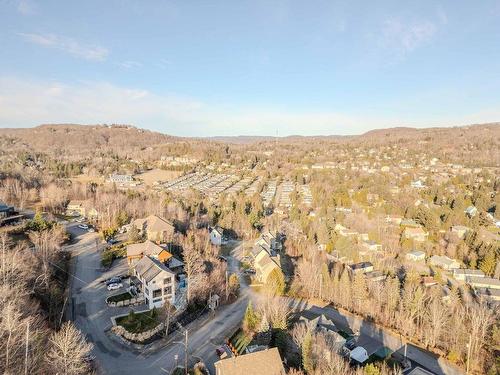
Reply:
[[[104,47],[85,45],[73,38],[56,34],[18,33],[18,35],[30,43],[58,49],[89,61],[104,61],[109,55],[109,51]]]

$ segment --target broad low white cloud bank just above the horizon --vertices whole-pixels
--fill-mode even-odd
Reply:
[[[500,108],[500,107],[496,107]],[[0,127],[123,123],[182,136],[359,134],[391,126],[447,126],[500,118],[496,108],[456,118],[398,118],[212,105],[107,82],[63,84],[0,77]]]

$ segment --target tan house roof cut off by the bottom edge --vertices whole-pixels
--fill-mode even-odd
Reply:
[[[285,375],[278,348],[221,359],[214,363],[215,375]]]

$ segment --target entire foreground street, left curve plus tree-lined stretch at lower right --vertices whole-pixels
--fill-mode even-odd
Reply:
[[[126,273],[126,262],[115,262],[110,271],[102,272],[99,249],[103,245],[101,241],[97,241],[98,235],[82,231],[74,224],[68,225],[68,231],[74,236],[74,243],[67,247],[73,255],[74,265],[68,317],[75,321],[88,340],[94,344],[93,354],[97,358],[100,372],[169,374],[177,364],[183,365],[185,348],[181,330],[177,330],[168,340],[157,341],[144,347],[126,344],[108,332],[112,326],[111,317],[126,314],[131,307],[108,307],[105,298],[111,293],[101,281]],[[234,254],[238,252],[238,249],[233,251]],[[230,272],[238,271],[238,261],[233,256],[228,257],[228,268]],[[241,278],[241,293],[236,302],[220,308],[213,316],[206,314],[185,327],[188,330],[190,364],[201,359],[210,372],[215,374],[213,364],[218,360],[215,349],[224,343],[240,324],[248,299],[257,300],[258,297],[259,295],[245,284],[244,278]],[[404,352],[404,344],[397,334],[376,327],[359,317],[341,314],[332,307],[315,306],[301,299],[292,299],[290,303],[294,311],[309,310],[312,313],[324,314],[339,329],[359,331],[358,342],[366,346],[371,353],[384,346],[393,351]],[[146,307],[133,309],[141,311]],[[411,345],[407,346],[407,356],[435,374],[462,374],[459,369]]]

